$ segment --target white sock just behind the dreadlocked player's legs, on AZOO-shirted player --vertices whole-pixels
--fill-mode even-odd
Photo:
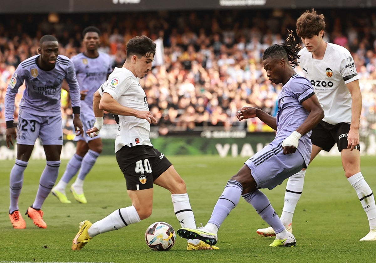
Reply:
[[[293,222],[296,205],[303,192],[304,176],[306,170],[301,170],[288,178],[285,192],[285,203],[280,219],[285,226]]]

